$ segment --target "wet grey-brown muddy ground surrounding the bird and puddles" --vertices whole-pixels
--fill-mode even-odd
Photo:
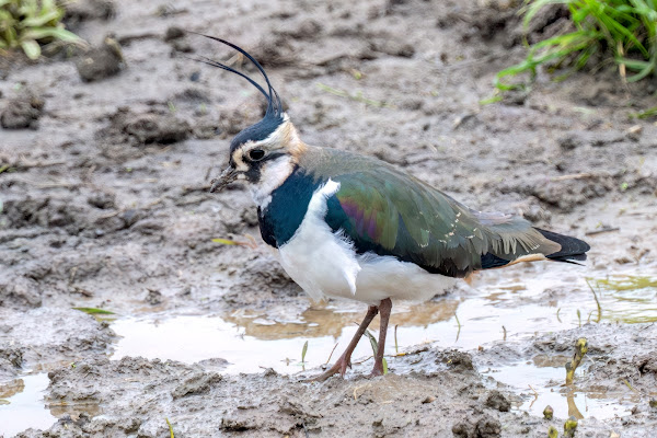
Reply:
[[[379,157],[543,228],[580,238],[611,228],[586,237],[583,276],[656,272],[657,126],[629,115],[655,106],[657,82],[624,84],[603,64],[596,78],[541,74],[530,93],[480,105],[495,72],[523,54],[512,3],[89,0],[67,20],[95,48],[3,59],[0,399],[25,372],[47,371],[45,404],[59,418],[19,436],[168,437],[166,417],[176,438],[543,437],[563,418],[509,411],[519,395],[482,370],[570,356],[580,335],[592,360],[576,384],[638,395],[632,415],[587,418],[578,436],[656,436],[653,323],[586,324],[464,351],[417,346],[391,358],[384,378],[364,378],[362,365],[347,380],[307,383],[316,369],[234,374],[219,360],[230,357],[118,360],[111,324],[71,309],[290,321],[313,306],[262,245],[211,241],[260,239],[245,187],[208,188],[263,102],[240,78],[188,59],[233,54],[180,30],[252,51],[307,142]],[[563,25],[561,12],[546,13],[531,38]],[[568,290],[543,298],[555,293]]]

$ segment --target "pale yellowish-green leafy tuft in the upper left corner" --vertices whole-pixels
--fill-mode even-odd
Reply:
[[[0,0],[0,54],[22,49],[30,59],[41,56],[41,44],[82,44],[64,28],[64,8],[56,0]]]

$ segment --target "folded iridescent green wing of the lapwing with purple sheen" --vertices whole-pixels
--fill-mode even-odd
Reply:
[[[481,269],[483,256],[484,263],[494,257],[504,264],[560,249],[521,218],[473,211],[387,165],[333,180],[339,189],[327,199],[326,222],[351,240],[358,253],[391,255],[431,273],[462,277]]]

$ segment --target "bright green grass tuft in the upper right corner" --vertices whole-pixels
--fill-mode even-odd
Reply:
[[[657,72],[657,0],[526,0],[521,10],[526,30],[549,4],[565,4],[575,30],[531,45],[523,61],[497,73],[498,90],[525,89],[527,83],[503,80],[520,73],[529,73],[533,80],[537,68],[546,62],[570,62],[575,70],[580,69],[602,50],[627,82]],[[627,70],[632,74],[626,76]]]

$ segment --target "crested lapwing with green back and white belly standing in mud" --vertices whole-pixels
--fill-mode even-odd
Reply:
[[[221,62],[201,61],[246,79],[267,100],[263,119],[231,141],[228,166],[210,191],[245,181],[262,238],[277,250],[288,275],[315,301],[337,297],[369,306],[346,350],[315,380],[344,377],[378,313],[371,374],[383,373],[393,300],[428,300],[481,269],[586,260],[589,245],[581,240],[517,216],[473,210],[376,158],[306,145],[258,61],[232,43],[208,37],[253,62],[266,87]]]

